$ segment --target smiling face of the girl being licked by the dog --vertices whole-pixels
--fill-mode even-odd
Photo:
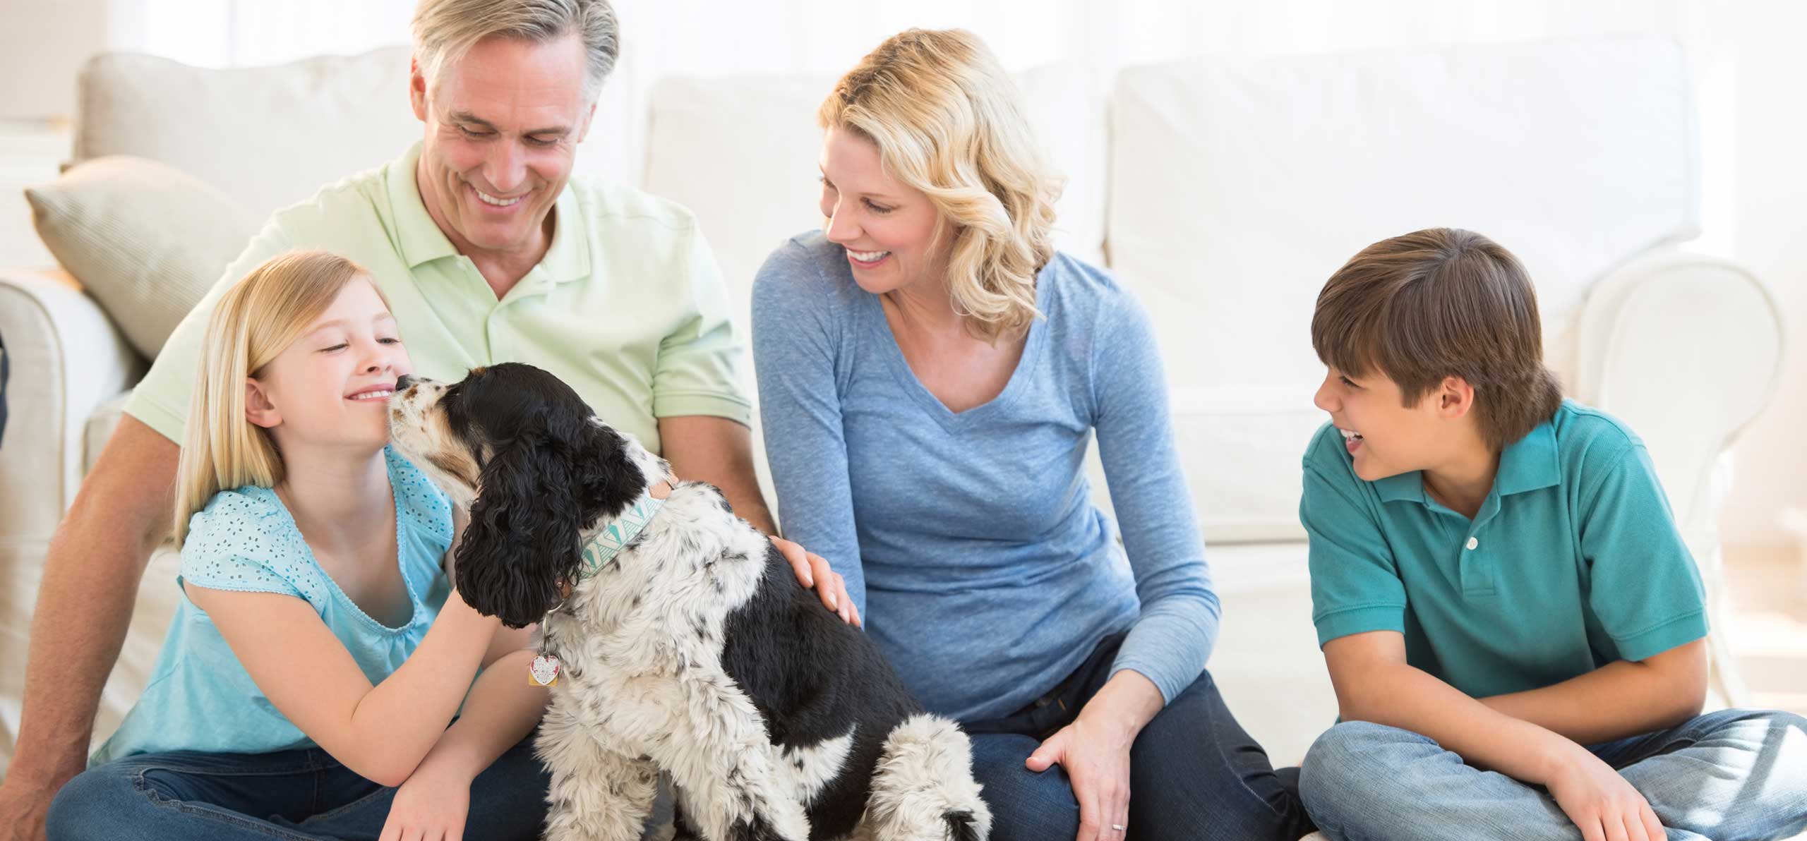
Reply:
[[[276,446],[381,449],[389,395],[414,370],[396,318],[367,278],[345,283],[300,339],[246,381],[246,415]]]

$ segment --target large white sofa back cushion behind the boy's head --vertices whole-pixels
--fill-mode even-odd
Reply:
[[[1325,420],[1312,307],[1361,247],[1431,226],[1496,238],[1567,375],[1588,287],[1697,233],[1693,99],[1666,40],[1138,67],[1111,125],[1111,269],[1155,319],[1211,540],[1299,534],[1299,457]]]

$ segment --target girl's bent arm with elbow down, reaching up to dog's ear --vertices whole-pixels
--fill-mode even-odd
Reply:
[[[401,785],[446,733],[501,628],[452,590],[419,648],[370,686],[307,601],[199,585],[186,590],[271,704],[345,767],[381,785]]]

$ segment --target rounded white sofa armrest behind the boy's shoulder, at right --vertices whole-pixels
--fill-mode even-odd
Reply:
[[[1717,700],[1744,706],[1744,680],[1718,633],[1718,513],[1729,485],[1729,449],[1782,384],[1782,310],[1747,269],[1664,251],[1597,283],[1583,305],[1578,336],[1576,397],[1623,419],[1650,448],[1675,525],[1708,588]]]

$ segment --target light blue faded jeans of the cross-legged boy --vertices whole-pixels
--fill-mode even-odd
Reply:
[[[1673,839],[1776,839],[1807,828],[1807,720],[1726,709],[1592,745]],[[1305,756],[1299,794],[1337,841],[1563,839],[1581,830],[1547,790],[1480,771],[1411,731],[1343,722]]]

